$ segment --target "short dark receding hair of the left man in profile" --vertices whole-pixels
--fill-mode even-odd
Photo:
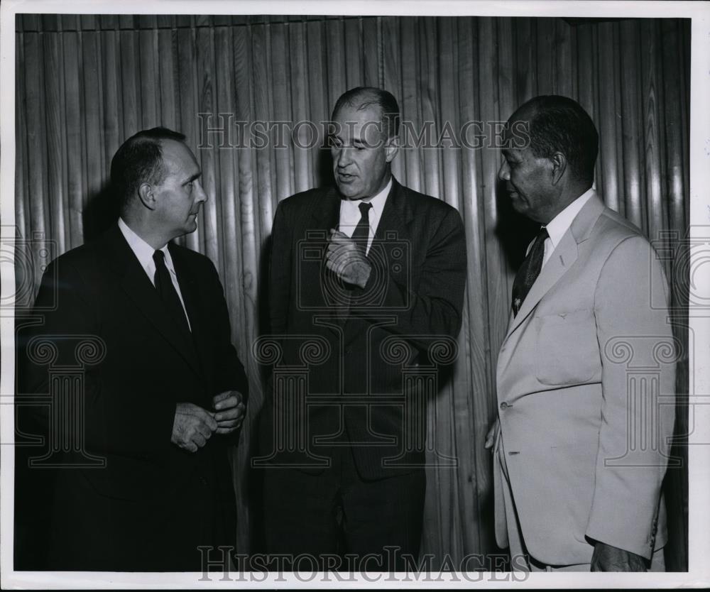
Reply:
[[[111,160],[111,188],[121,211],[142,183],[159,185],[168,171],[163,163],[163,140],[185,141],[185,134],[157,127],[139,131],[116,151]]]

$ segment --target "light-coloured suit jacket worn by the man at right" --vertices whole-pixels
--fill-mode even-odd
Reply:
[[[589,563],[595,540],[646,558],[665,544],[677,351],[667,296],[648,241],[595,194],[510,319],[499,437],[537,561]],[[497,460],[496,538],[507,547]]]

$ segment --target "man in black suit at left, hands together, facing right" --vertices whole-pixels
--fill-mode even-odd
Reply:
[[[29,469],[51,508],[40,569],[202,571],[198,546],[233,544],[247,380],[217,270],[170,243],[207,199],[184,139],[153,128],[119,148],[118,224],[51,263],[21,338],[25,392],[52,398]]]

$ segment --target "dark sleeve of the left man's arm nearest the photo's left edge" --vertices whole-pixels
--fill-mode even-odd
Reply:
[[[20,383],[26,393],[51,394],[50,405],[58,404],[57,393],[50,393],[56,387],[50,387],[48,364],[41,356],[38,358],[37,350],[28,351],[33,349],[27,347],[33,340],[35,344],[50,344],[55,349],[55,367],[77,366],[76,348],[82,339],[102,341],[101,322],[91,294],[81,273],[70,262],[60,259],[50,264],[35,300],[34,316],[38,324],[29,332],[28,342],[20,351]],[[53,303],[56,305],[52,308]],[[112,452],[145,457],[160,454],[172,446],[174,403],[156,399],[141,401],[140,407],[129,405],[126,393],[117,392],[115,386],[105,383],[101,376],[100,361],[85,367],[83,391],[72,393],[74,396],[68,403],[82,407],[71,407],[68,411],[82,413],[84,433],[59,434],[60,437],[70,435],[83,439],[87,450],[95,454]],[[77,385],[76,382],[70,384]],[[48,417],[49,407],[38,407],[35,419],[45,430],[75,429],[74,423],[50,426]]]

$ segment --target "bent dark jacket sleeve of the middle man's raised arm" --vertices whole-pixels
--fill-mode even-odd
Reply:
[[[466,285],[466,239],[461,216],[455,209],[447,208],[429,241],[424,242],[422,237],[422,244],[417,239],[413,239],[410,248],[425,248],[426,254],[416,289],[398,282],[387,268],[382,268],[378,273],[370,274],[364,288],[356,288],[354,292],[372,292],[373,283],[383,278],[386,282],[384,299],[377,310],[398,311],[398,324],[387,330],[403,336],[456,337],[461,329],[461,309]],[[367,312],[356,314],[367,317]]]

